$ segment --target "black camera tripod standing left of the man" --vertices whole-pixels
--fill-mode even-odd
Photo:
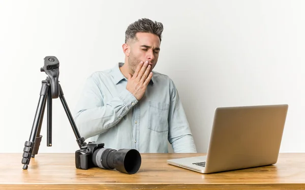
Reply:
[[[42,86],[40,91],[40,98],[32,126],[31,135],[29,140],[24,143],[23,155],[21,163],[23,169],[26,170],[31,157],[35,157],[38,154],[42,135],[40,135],[41,125],[43,121],[44,111],[47,101],[47,146],[52,146],[52,98],[58,98],[62,102],[65,112],[70,121],[71,127],[76,137],[79,148],[85,147],[85,139],[82,138],[78,132],[78,129],[73,120],[72,114],[69,110],[68,104],[64,97],[62,87],[58,83],[59,76],[59,61],[54,56],[48,56],[44,58],[44,67],[40,69],[41,72],[45,72],[48,76],[45,80],[42,80]]]

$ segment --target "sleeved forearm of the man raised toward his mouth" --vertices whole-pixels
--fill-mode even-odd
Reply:
[[[127,90],[102,106],[83,109],[75,117],[75,123],[85,139],[107,131],[116,125],[132,108],[137,99]]]

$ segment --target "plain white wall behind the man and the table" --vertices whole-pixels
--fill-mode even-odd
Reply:
[[[305,1],[0,1],[0,152],[23,152],[39,99],[43,58],[60,62],[73,111],[85,78],[124,61],[129,23],[164,24],[156,71],[175,82],[198,152],[206,152],[218,106],[288,103],[281,152],[305,152]],[[53,99],[53,146],[75,136]]]

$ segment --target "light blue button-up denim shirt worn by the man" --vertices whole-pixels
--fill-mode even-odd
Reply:
[[[112,149],[140,153],[196,152],[189,123],[173,81],[153,71],[138,101],[126,90],[127,78],[119,63],[95,72],[85,82],[74,120],[82,137],[95,138]]]

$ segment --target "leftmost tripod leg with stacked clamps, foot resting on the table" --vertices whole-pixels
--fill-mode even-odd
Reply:
[[[34,118],[34,122],[33,122],[33,126],[32,126],[31,135],[30,135],[29,140],[24,143],[23,155],[22,155],[22,161],[21,161],[21,163],[23,164],[22,169],[24,169],[24,170],[27,169],[27,165],[29,164],[29,161],[31,160],[34,145],[40,144],[40,142],[35,143],[35,139],[38,135],[38,132],[40,132],[45,103],[46,103],[46,95],[48,93],[48,90],[49,90],[49,87],[48,87],[47,83],[45,81],[43,81],[42,86],[41,86],[41,91],[40,91],[39,102],[38,102],[38,106],[36,109],[36,114],[35,114],[35,118]],[[38,135],[38,136],[40,137],[40,135]]]

